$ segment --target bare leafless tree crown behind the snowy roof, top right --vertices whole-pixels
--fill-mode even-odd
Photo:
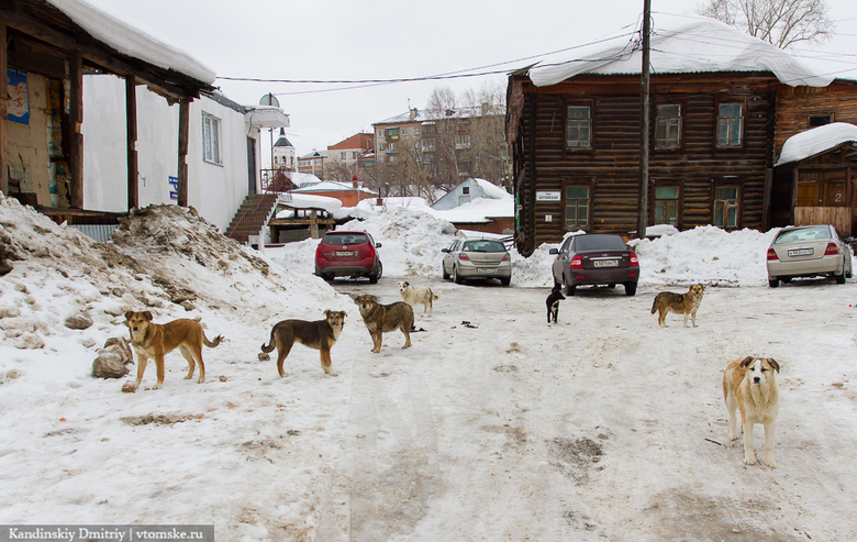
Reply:
[[[824,0],[703,0],[697,12],[780,48],[822,43],[834,29]]]

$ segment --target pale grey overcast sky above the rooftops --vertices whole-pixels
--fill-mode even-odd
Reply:
[[[498,85],[504,91],[505,70],[533,56],[633,32],[643,12],[643,0],[86,1],[183,49],[219,77],[366,80],[502,71],[371,86],[215,81],[244,104],[274,92],[291,118],[287,133],[299,155],[370,132],[372,123],[409,106],[423,109],[436,87],[460,93]],[[692,14],[697,4],[652,0],[655,24],[658,12]],[[837,35],[795,53],[805,59],[836,53],[825,68],[857,79],[857,0],[826,4]]]

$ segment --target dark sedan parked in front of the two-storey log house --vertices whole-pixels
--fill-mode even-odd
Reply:
[[[612,288],[622,284],[625,295],[637,292],[639,261],[622,235],[572,235],[558,250],[550,248],[549,253],[556,254],[552,266],[554,285],[565,286],[566,296],[574,296],[580,285],[608,285]]]

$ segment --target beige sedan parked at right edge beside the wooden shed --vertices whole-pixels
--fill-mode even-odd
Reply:
[[[836,284],[852,278],[852,251],[836,228],[830,224],[783,228],[768,248],[768,285],[794,277],[831,276]]]

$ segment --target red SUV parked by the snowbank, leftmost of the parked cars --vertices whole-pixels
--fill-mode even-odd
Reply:
[[[315,248],[315,275],[325,280],[367,277],[376,284],[383,273],[380,247],[366,232],[330,231]]]

